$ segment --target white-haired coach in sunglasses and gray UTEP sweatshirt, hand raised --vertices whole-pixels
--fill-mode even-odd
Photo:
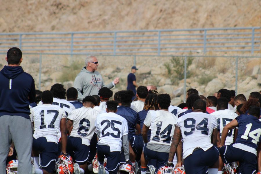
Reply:
[[[85,65],[86,66],[82,68],[81,72],[74,80],[74,87],[78,91],[77,99],[80,102],[88,95],[98,95],[98,92],[102,87],[111,89],[119,83],[119,77],[116,77],[110,84],[104,85],[102,75],[97,71],[99,63],[95,56],[87,56]]]

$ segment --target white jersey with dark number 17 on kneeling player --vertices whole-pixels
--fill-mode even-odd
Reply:
[[[31,108],[30,119],[34,122],[35,132],[33,137],[46,137],[48,142],[57,143],[60,131],[60,120],[66,118],[65,112],[59,106],[43,104]]]

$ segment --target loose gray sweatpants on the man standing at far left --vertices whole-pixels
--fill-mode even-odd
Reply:
[[[6,173],[6,158],[14,142],[18,159],[18,173],[31,174],[32,123],[21,116],[0,117],[0,173]]]

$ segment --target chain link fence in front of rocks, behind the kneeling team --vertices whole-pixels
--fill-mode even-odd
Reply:
[[[7,65],[1,55],[0,68]],[[36,88],[50,90],[55,83],[73,86],[73,81],[85,66],[86,55],[23,54],[21,66],[35,79]],[[136,65],[138,85],[155,85],[159,93],[171,95],[171,104],[185,101],[189,88],[196,88],[205,97],[221,88],[243,93],[261,90],[261,57],[242,56],[111,56],[97,55],[98,71],[105,84],[120,77],[112,90],[126,90],[127,75]]]

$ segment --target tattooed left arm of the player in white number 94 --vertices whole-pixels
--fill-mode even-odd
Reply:
[[[177,146],[180,143],[180,140],[181,140],[180,127],[175,126],[174,135],[173,135],[173,139],[172,139],[172,143],[171,143],[171,148],[170,148],[169,156],[168,156],[168,164],[172,165],[173,158],[177,151]]]

